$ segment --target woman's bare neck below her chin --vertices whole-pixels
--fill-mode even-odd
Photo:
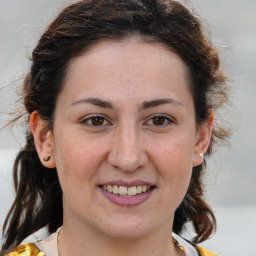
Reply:
[[[85,231],[86,230],[86,231]],[[99,232],[70,227],[65,224],[59,236],[59,256],[176,256],[177,248],[172,242],[172,233],[152,232],[144,237],[111,237]]]

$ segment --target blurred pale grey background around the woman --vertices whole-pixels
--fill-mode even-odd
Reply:
[[[0,1],[0,126],[15,106],[17,86],[39,35],[67,0]],[[256,256],[256,1],[192,0],[205,20],[234,86],[231,146],[211,160],[206,191],[218,221],[203,246],[220,255]],[[191,5],[188,4],[188,5]],[[12,203],[12,164],[24,128],[0,130],[0,227]],[[1,235],[0,235],[1,238]]]

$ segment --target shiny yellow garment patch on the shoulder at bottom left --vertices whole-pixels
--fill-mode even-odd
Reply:
[[[45,256],[34,243],[19,245],[4,256]]]

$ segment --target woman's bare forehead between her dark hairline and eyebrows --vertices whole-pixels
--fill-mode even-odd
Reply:
[[[69,98],[83,94],[159,98],[175,90],[189,90],[188,73],[182,59],[160,43],[138,38],[104,40],[70,62],[64,91]]]

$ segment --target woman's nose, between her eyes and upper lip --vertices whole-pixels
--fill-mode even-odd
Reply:
[[[136,127],[123,125],[115,132],[108,162],[124,172],[133,172],[148,163],[143,138]]]

